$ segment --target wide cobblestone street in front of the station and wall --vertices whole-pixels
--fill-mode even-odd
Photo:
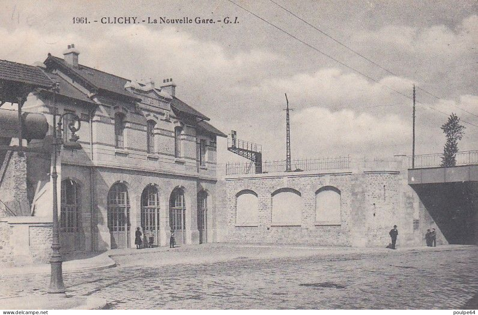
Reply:
[[[65,274],[67,294],[104,297],[112,309],[457,309],[478,292],[472,246],[385,251],[198,245],[131,252],[113,257],[117,267]],[[2,297],[44,294],[49,275],[1,281]]]

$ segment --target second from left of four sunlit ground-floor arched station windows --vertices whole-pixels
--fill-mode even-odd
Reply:
[[[148,185],[141,194],[141,227],[144,231],[156,231],[159,223],[158,188]]]

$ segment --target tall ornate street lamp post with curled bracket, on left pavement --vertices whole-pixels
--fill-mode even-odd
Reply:
[[[53,89],[53,170],[52,170],[52,184],[53,184],[53,238],[52,238],[52,256],[50,257],[51,277],[50,288],[48,293],[65,293],[65,284],[63,283],[63,271],[62,271],[62,257],[60,253],[60,228],[58,223],[58,193],[57,193],[57,178],[58,173],[56,170],[56,156],[61,152],[61,145],[64,144],[65,148],[71,150],[81,149],[81,145],[76,142],[78,136],[75,134],[80,129],[80,119],[76,114],[65,113],[58,119],[58,128],[56,127],[56,92],[58,91],[58,83]],[[62,141],[62,119],[65,116],[71,116],[68,128],[72,132],[72,137],[69,141],[64,143]],[[77,122],[77,126],[75,124]]]

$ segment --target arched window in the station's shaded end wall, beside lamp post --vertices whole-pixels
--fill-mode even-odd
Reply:
[[[61,182],[60,231],[78,232],[80,230],[78,185],[71,179]]]

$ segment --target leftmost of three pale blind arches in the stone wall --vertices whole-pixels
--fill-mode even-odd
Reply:
[[[257,227],[259,223],[259,201],[252,190],[241,190],[236,194],[236,225]]]

